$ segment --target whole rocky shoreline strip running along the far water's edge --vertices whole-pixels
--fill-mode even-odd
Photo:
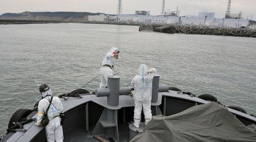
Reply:
[[[32,20],[1,20],[1,24],[50,24],[50,23],[83,23],[83,24],[110,24],[110,25],[135,25],[139,31],[160,33],[184,33],[197,35],[242,36],[256,38],[256,30],[247,28],[207,27],[195,25],[169,25],[169,24],[139,24],[135,22],[100,22],[100,21],[32,21]]]

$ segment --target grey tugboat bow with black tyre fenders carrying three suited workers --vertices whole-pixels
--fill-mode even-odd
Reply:
[[[217,139],[223,137],[222,135],[236,135],[233,139],[237,142],[239,140],[256,142],[254,115],[246,114],[245,110],[237,106],[225,107],[217,98],[209,94],[196,97],[190,92],[182,92],[178,88],[159,84],[159,78],[160,76],[155,76],[152,81],[153,119],[145,126],[141,117],[140,128],[135,128],[132,122],[134,110],[134,100],[130,95],[132,88],[120,87],[120,76],[109,76],[108,88],[96,89],[93,93],[76,90],[76,94],[71,92],[60,95],[66,117],[63,125],[64,141],[153,142],[183,139],[185,142],[189,137],[191,142],[206,142],[222,141]],[[6,133],[0,137],[0,142],[46,142],[44,127],[34,126],[36,123],[34,120],[37,118],[36,106],[33,109],[21,109],[15,112]],[[178,129],[181,123],[175,123],[175,120],[181,121],[186,131],[181,133]],[[211,127],[212,125],[214,126]],[[168,129],[174,126],[177,131]],[[214,131],[206,128],[214,128]],[[225,134],[218,133],[217,130],[220,128]],[[207,131],[197,131],[197,133],[193,131],[192,134],[188,129]],[[207,139],[207,136],[211,136],[209,137],[211,139]],[[227,139],[227,136],[223,140],[231,142],[232,139]]]

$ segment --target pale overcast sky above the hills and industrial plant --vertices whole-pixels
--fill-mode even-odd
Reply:
[[[215,12],[223,18],[228,0],[165,0],[165,11],[175,11],[179,6],[180,15],[198,15],[198,12]],[[162,0],[123,0],[123,14],[134,14],[136,10],[151,11],[159,15]],[[117,0],[0,0],[0,13],[21,13],[24,11],[76,11],[116,14]],[[232,0],[231,13],[243,11],[243,17],[256,19],[256,0]]]

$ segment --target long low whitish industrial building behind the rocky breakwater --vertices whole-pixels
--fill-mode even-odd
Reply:
[[[175,17],[175,16],[145,16],[145,15],[118,15],[119,22],[138,22],[152,24],[186,24],[207,25],[214,27],[240,28],[249,25],[248,19],[223,19],[207,17]]]

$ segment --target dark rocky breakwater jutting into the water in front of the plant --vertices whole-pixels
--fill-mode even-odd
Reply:
[[[161,33],[184,33],[197,35],[242,36],[256,38],[256,30],[250,30],[247,28],[145,24],[139,26],[139,31],[154,31]]]

